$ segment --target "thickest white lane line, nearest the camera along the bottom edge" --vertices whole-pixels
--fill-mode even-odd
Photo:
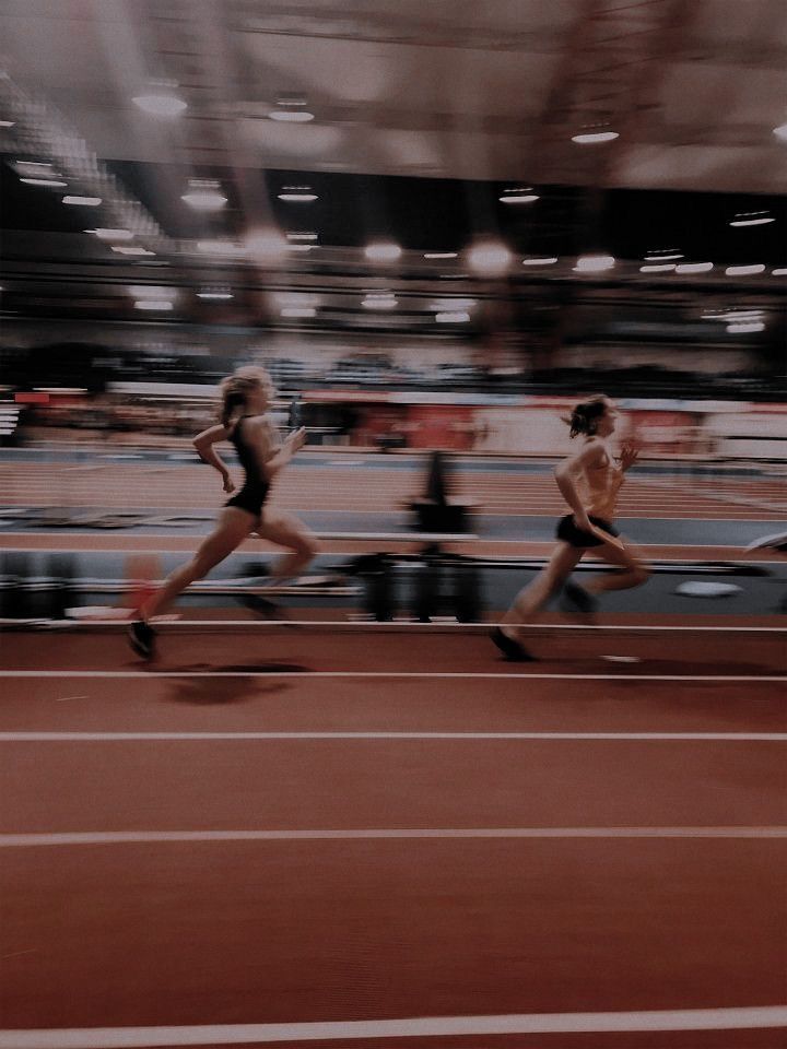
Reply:
[[[356,1038],[445,1038],[460,1035],[569,1034],[633,1030],[753,1030],[783,1027],[787,1005],[645,1010],[615,1013],[514,1013],[304,1024],[210,1024],[181,1027],[67,1027],[0,1030],[0,1049],[143,1049],[151,1046],[237,1046],[243,1042]]]

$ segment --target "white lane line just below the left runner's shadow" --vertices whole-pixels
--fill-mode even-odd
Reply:
[[[210,740],[690,740],[785,743],[787,732],[0,732],[0,743],[199,743]]]

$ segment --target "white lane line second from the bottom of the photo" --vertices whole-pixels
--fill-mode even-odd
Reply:
[[[68,830],[0,834],[0,849],[172,841],[357,841],[449,838],[787,838],[787,827],[371,827],[345,830]]]

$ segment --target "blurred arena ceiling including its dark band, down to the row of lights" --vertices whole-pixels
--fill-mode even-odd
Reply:
[[[691,260],[787,261],[785,0],[0,0],[0,38],[12,279],[60,260],[83,282],[231,281],[270,227],[320,249],[273,264],[258,236],[251,266],[360,282],[375,238],[426,280],[462,262],[424,252],[479,235],[566,272],[601,248],[638,273],[677,239]],[[280,200],[305,186],[312,211]],[[183,199],[205,190],[225,207]],[[759,210],[771,225],[730,239]]]

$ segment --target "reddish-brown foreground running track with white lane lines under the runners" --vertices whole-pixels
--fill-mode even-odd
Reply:
[[[783,630],[0,645],[2,1049],[785,1046]]]

